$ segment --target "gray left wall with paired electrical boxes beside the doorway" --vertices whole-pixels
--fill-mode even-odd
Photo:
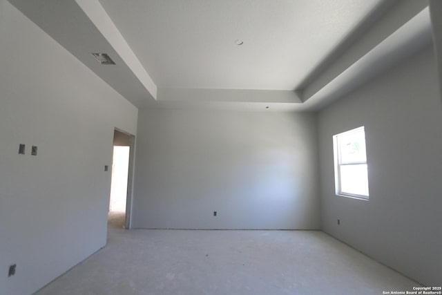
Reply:
[[[104,165],[137,108],[4,0],[0,69],[0,294],[29,295],[105,245]]]

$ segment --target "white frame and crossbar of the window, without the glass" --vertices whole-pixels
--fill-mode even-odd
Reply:
[[[345,131],[343,133],[339,133],[336,135],[333,135],[333,149],[334,149],[334,179],[335,179],[335,193],[336,196],[343,196],[343,197],[347,197],[347,198],[354,198],[354,199],[359,199],[359,200],[369,200],[369,193],[367,194],[367,196],[365,195],[359,195],[356,193],[347,193],[347,192],[343,192],[341,190],[341,178],[340,178],[340,166],[344,166],[344,165],[361,165],[361,164],[367,164],[367,157],[365,157],[365,162],[351,162],[351,163],[345,163],[345,164],[341,164],[340,163],[340,144],[338,144],[338,137],[340,137],[341,135],[349,135],[351,133],[358,133],[358,132],[364,132],[364,136],[365,136],[365,127],[361,126],[358,127],[356,129],[352,129],[349,131]],[[367,144],[365,143],[365,151],[366,151],[366,147]],[[368,176],[367,176],[368,177]]]

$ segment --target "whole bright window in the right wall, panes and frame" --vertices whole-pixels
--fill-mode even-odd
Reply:
[[[336,195],[368,200],[364,127],[334,135],[333,143]]]

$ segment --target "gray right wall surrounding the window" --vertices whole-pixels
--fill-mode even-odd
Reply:
[[[318,116],[323,230],[425,285],[442,282],[439,97],[427,48]],[[358,126],[365,126],[369,201],[334,195],[332,136]]]

